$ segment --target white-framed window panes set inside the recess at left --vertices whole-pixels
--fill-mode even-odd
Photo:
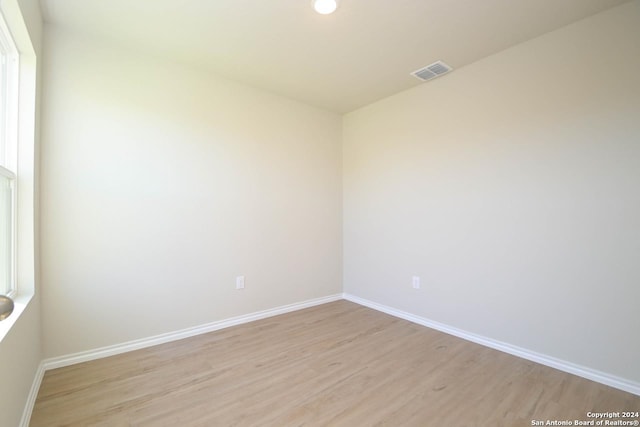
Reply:
[[[18,50],[0,14],[0,294],[16,291]]]

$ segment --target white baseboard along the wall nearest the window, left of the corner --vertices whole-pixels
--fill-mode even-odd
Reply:
[[[192,328],[182,329],[175,332],[156,335],[149,338],[142,338],[135,341],[129,341],[121,344],[110,345],[107,347],[96,348],[93,350],[83,351],[80,353],[69,354],[60,357],[45,359],[43,361],[44,369],[56,369],[64,366],[74,365],[76,363],[88,362],[90,360],[102,359],[103,357],[115,356],[116,354],[126,353],[141,348],[152,347],[158,344],[164,344],[171,341],[177,341],[184,338],[193,337],[207,332],[217,331],[219,329],[228,328],[230,326],[240,325],[243,323],[253,322],[254,320],[265,319],[267,317],[277,316],[279,314],[289,313],[303,308],[313,307],[332,301],[342,299],[342,294],[330,295],[327,297],[316,298],[299,303],[284,305],[268,310],[258,311],[245,314],[242,316],[232,317],[217,322],[207,323],[205,325],[195,326]],[[37,391],[36,391],[37,392]]]

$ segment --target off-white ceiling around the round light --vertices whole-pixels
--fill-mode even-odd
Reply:
[[[342,113],[627,0],[41,1],[48,23]]]

